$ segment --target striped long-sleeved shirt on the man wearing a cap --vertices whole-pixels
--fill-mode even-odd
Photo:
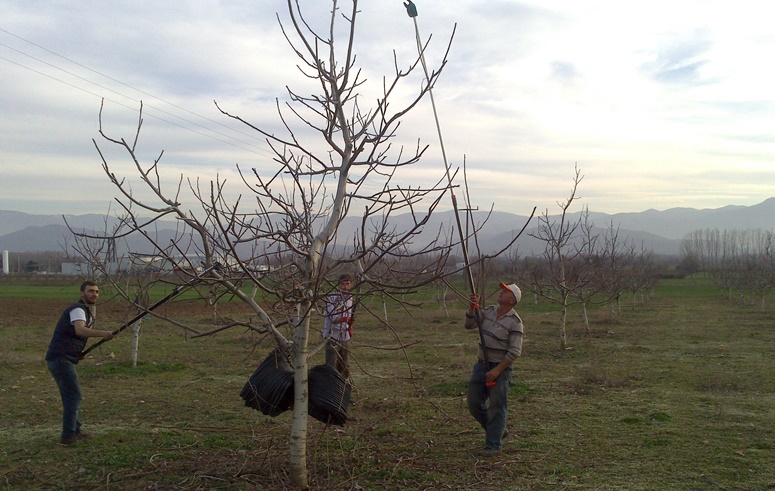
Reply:
[[[491,305],[481,309],[482,337],[487,346],[487,361],[500,363],[507,359],[510,362],[516,360],[522,354],[522,335],[524,326],[516,310],[511,309],[501,317],[498,316],[498,306]],[[476,329],[476,318],[466,315],[466,329]],[[481,342],[479,343],[479,359],[484,360]]]

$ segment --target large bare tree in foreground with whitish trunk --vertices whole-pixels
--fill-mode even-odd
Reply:
[[[203,278],[205,286],[217,285],[244,302],[253,320],[226,320],[214,331],[243,326],[271,335],[289,353],[295,397],[290,476],[299,487],[308,483],[307,374],[311,353],[316,351],[310,346],[311,321],[335,287],[330,280],[340,272],[354,273],[358,278],[354,291],[359,297],[404,301],[403,293],[450,274],[445,265],[452,248],[459,246],[441,233],[421,241],[420,232],[452,183],[445,184],[443,169],[439,169],[435,182],[402,185],[402,176],[404,182],[413,182],[406,171],[427,147],[417,143],[406,149],[394,143],[401,119],[437,82],[447,54],[408,98],[397,89],[416,71],[420,57],[400,68],[394,56],[394,72],[383,78],[379,96],[367,108],[360,95],[367,80],[355,57],[358,1],[346,2],[346,13],[340,13],[340,3],[331,2],[330,19],[325,27],[316,29],[299,4],[288,1],[289,21],[280,22],[283,34],[301,73],[318,90],[302,95],[288,89],[287,100],[278,100],[282,132],[254,126],[218,107],[261,134],[276,163],[269,173],[238,167],[245,186],[238,198],[229,198],[220,177],[203,186],[181,176],[170,186],[159,171],[161,155],[142,163],[136,148],[142,107],[131,143],[109,137],[100,123],[104,140],[121,147],[133,162],[134,179],[139,177],[142,193],[114,174],[95,141],[103,169],[118,189],[121,207],[117,225],[102,239],[142,234],[157,258],[187,275],[196,275],[201,265],[221,263],[222,269]],[[446,51],[451,41],[450,37]],[[415,77],[411,83],[419,80]],[[185,205],[184,199],[194,207]],[[342,220],[355,209],[360,216],[357,232],[338,234]],[[390,217],[398,213],[410,216],[411,225],[396,228]],[[171,237],[162,239],[155,231],[154,224],[162,219],[179,224]]]

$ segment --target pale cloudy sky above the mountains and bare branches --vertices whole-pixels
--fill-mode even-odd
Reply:
[[[327,25],[330,2],[300,4],[313,26]],[[449,163],[465,163],[472,206],[553,213],[570,195],[575,168],[583,176],[575,203],[595,212],[750,206],[775,196],[775,6],[415,4],[411,19],[400,0],[360,2],[363,104],[392,74],[394,55],[400,67],[414,60],[416,32],[430,38],[429,66],[454,32],[433,96]],[[101,106],[104,133],[132,142],[142,101],[137,154],[145,165],[161,156],[165,189],[181,175],[219,178],[236,199],[244,192],[237,166],[272,175],[267,144],[214,101],[281,131],[275,104],[287,101],[286,87],[313,93],[278,16],[287,21],[284,1],[0,2],[0,209],[115,208],[100,152],[119,178],[131,183],[135,173],[100,136]],[[405,82],[397,103],[421,79]],[[396,142],[411,148],[418,139],[429,149],[400,179],[435,182],[444,164],[427,99]]]

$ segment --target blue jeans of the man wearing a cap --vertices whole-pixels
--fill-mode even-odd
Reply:
[[[508,397],[511,387],[512,368],[509,367],[495,379],[495,386],[485,385],[489,369],[483,363],[476,363],[468,381],[468,411],[486,435],[487,448],[500,450],[503,446],[503,432],[506,431],[506,415],[509,412]],[[489,399],[489,404],[487,400]]]

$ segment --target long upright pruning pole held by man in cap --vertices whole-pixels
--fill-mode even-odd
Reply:
[[[441,157],[444,160],[444,171],[447,175],[447,182],[449,184],[450,194],[452,196],[452,209],[455,212],[455,222],[457,223],[457,231],[460,237],[460,248],[463,251],[463,261],[466,265],[466,279],[468,280],[468,288],[471,291],[471,295],[476,294],[476,285],[474,283],[474,274],[471,271],[471,261],[468,258],[468,246],[466,243],[466,237],[463,234],[463,227],[460,224],[460,211],[457,206],[457,198],[455,197],[455,188],[452,185],[452,176],[450,174],[450,165],[447,162],[447,152],[444,149],[444,138],[441,136],[441,124],[439,123],[439,115],[436,111],[436,101],[433,98],[433,89],[431,88],[430,75],[428,74],[428,66],[425,63],[425,50],[422,45],[422,38],[420,37],[420,28],[417,25],[417,7],[412,0],[408,0],[404,3],[406,7],[406,13],[414,21],[415,39],[417,40],[417,51],[420,54],[420,62],[422,64],[423,72],[425,73],[425,80],[428,82],[428,95],[431,98],[431,106],[433,107],[433,118],[436,120],[436,132],[439,135],[439,146],[441,147]],[[476,326],[479,331],[479,343],[482,346],[482,356],[484,363],[489,369],[489,357],[487,356],[487,345],[484,344],[484,333],[482,331],[482,314],[479,309],[479,305],[474,305],[474,317],[476,318]],[[489,382],[486,384],[488,387],[495,385],[495,382]]]

